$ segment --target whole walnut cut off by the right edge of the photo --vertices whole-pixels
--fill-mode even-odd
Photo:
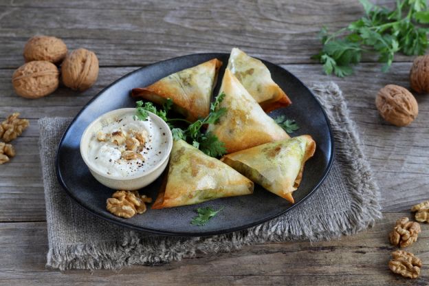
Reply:
[[[417,56],[412,62],[410,85],[419,94],[429,93],[429,55]]]

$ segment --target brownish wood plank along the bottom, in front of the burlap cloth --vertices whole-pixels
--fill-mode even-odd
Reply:
[[[423,261],[421,278],[410,281],[388,270],[390,252],[394,250],[388,244],[388,232],[402,215],[385,214],[375,228],[339,241],[252,245],[228,254],[200,254],[196,259],[157,267],[93,273],[45,270],[45,223],[0,223],[0,284],[112,285],[127,281],[132,285],[144,281],[146,285],[427,285],[428,225],[422,225],[419,240],[408,248]]]

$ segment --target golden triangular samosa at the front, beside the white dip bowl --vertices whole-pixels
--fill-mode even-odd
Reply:
[[[184,140],[173,142],[168,176],[152,208],[172,208],[220,197],[250,195],[254,184]]]

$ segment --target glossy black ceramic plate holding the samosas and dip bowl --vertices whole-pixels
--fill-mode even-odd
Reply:
[[[106,199],[111,196],[113,190],[98,183],[80,157],[80,137],[88,124],[107,111],[134,107],[135,100],[129,96],[130,90],[134,87],[150,85],[164,76],[212,58],[218,58],[223,62],[217,89],[214,91],[214,94],[217,94],[228,57],[229,54],[192,54],[173,58],[137,69],[102,90],[74,118],[58,146],[56,170],[58,179],[67,194],[89,212],[113,223],[137,230],[177,236],[203,236],[243,230],[278,217],[311,195],[325,179],[333,162],[333,137],[329,121],[314,95],[298,78],[278,65],[263,61],[270,69],[274,81],[293,102],[290,107],[277,109],[270,115],[285,114],[287,118],[293,118],[300,126],[293,135],[309,134],[314,137],[317,144],[314,157],[305,164],[303,181],[294,192],[296,201],[294,205],[255,185],[252,195],[217,199],[196,206],[163,210],[149,208],[146,213],[131,219],[121,219],[107,212]],[[140,190],[140,193],[155,199],[160,183],[159,178]],[[206,225],[190,224],[192,217],[196,215],[195,209],[206,206],[212,206],[214,209],[224,207],[224,209]]]

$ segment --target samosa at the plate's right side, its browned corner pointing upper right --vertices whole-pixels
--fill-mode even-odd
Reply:
[[[271,142],[228,154],[222,161],[255,183],[294,203],[292,192],[303,177],[304,164],[314,155],[309,135]]]

